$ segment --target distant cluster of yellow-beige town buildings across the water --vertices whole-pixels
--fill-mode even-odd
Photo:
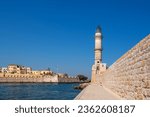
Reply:
[[[9,64],[7,67],[0,67],[0,77],[33,77],[58,76],[60,78],[73,78],[64,73],[55,73],[50,68],[44,70],[32,70],[31,67],[23,65]]]

